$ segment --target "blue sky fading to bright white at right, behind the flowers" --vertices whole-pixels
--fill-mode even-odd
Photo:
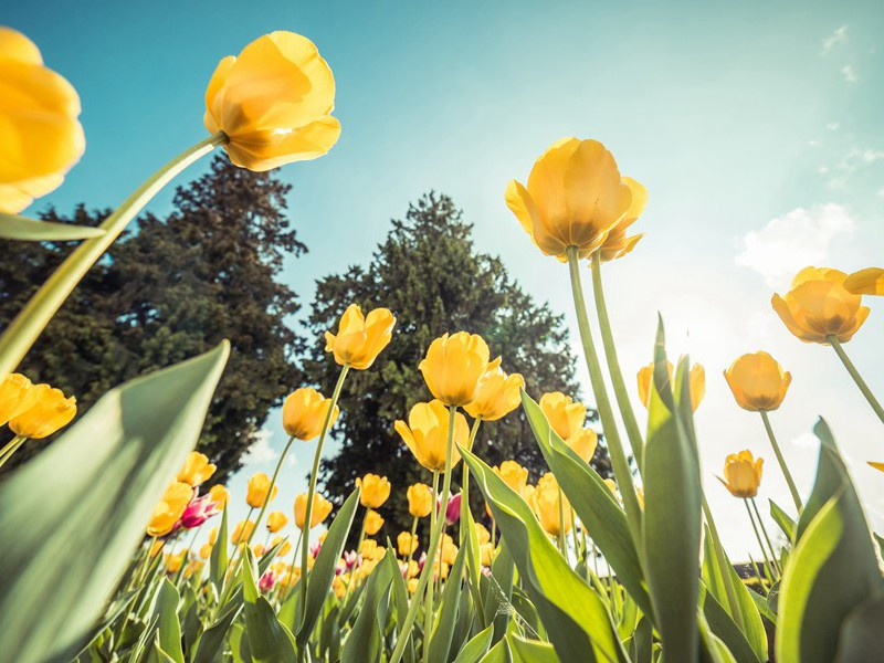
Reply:
[[[4,21],[40,45],[83,103],[86,154],[34,209],[122,201],[203,137],[202,95],[218,60],[265,32],[293,30],[316,42],[335,72],[344,127],[328,156],[281,171],[294,185],[292,218],[311,250],[285,271],[304,302],[317,277],[368,261],[388,220],[434,188],[475,223],[480,250],[499,254],[576,332],[567,270],[532,246],[503,190],[511,178],[524,181],[557,138],[600,139],[650,192],[645,238],[606,271],[621,361],[632,376],[650,360],[660,311],[672,352],[690,351],[706,367],[697,412],[704,480],[732,555],[740,557],[751,535],[743,506],[713,478],[727,453],[761,454],[760,495],[789,504],[758,417],[736,407],[722,378],[736,356],[758,349],[793,376],[772,421],[799,487],[810,487],[809,431],[823,413],[873,524],[884,527],[884,475],[865,465],[884,460],[881,423],[831,349],[791,337],[769,305],[807,264],[853,271],[884,262],[884,7],[478,4],[9,8]],[[170,191],[150,209],[164,211],[169,199]],[[872,315],[846,349],[884,398],[884,305],[866,304]],[[245,474],[272,471],[269,459],[284,443],[276,419]],[[290,515],[313,449],[297,446],[284,469],[275,504]],[[243,482],[234,480],[234,499]]]

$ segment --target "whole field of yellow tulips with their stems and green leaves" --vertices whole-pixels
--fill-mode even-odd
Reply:
[[[20,215],[83,154],[76,92],[11,29],[0,29],[0,236],[81,241],[0,336],[0,424],[10,430],[2,465],[29,440],[74,419],[73,396],[14,371],[144,206],[217,147],[239,167],[269,170],[320,157],[340,124],[332,115],[332,70],[316,46],[291,32],[261,36],[221,60],[209,81],[209,137],[146,180],[99,228],[81,228]],[[535,401],[532,386],[506,372],[507,348],[453,330],[425,348],[418,367],[425,393],[396,422],[425,483],[391,485],[378,467],[329,518],[333,505],[316,477],[339,397],[348,376],[377,369],[396,343],[393,312],[364,314],[352,304],[325,335],[337,385],[327,396],[302,387],[287,397],[288,442],[272,476],[249,481],[244,520],[229,522],[232,497],[212,484],[210,459],[193,451],[227,344],[108,391],[0,482],[0,661],[882,660],[884,539],[870,529],[824,419],[814,428],[813,487],[801,499],[770,419],[790,373],[764,351],[737,358],[725,373],[736,404],[760,418],[772,470],[792,497],[769,505],[776,536],[787,541],[778,550],[755,502],[761,459],[728,456],[719,480],[744,501],[761,550],[749,578],[722,545],[701,477],[694,411],[706,376],[688,357],[670,361],[662,319],[653,362],[628,387],[602,273],[641,239],[628,233],[646,199],[601,143],[577,138],[554,143],[527,185],[512,180],[505,191],[539,252],[569,270],[614,480],[589,463],[599,440],[583,404],[559,392]],[[884,295],[884,270],[807,267],[771,304],[798,339],[831,346],[884,424],[844,349],[869,315],[864,295]],[[645,430],[630,402],[635,387]],[[549,467],[536,485],[516,462],[490,466],[472,452],[480,427],[518,408]],[[293,512],[275,511],[296,440],[316,441],[309,487]],[[471,512],[471,492],[484,497],[483,513]],[[407,501],[413,525],[379,540],[376,509],[388,499]],[[424,518],[429,536],[421,538]],[[327,530],[311,545],[309,532],[320,525]],[[197,547],[200,533],[210,533],[209,543]],[[355,548],[348,539],[358,540]]]

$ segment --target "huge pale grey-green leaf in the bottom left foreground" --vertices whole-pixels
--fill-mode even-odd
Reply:
[[[18,663],[70,661],[101,618],[199,439],[229,347],[112,389],[0,484],[0,623]]]

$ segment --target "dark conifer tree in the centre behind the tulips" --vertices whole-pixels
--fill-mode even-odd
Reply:
[[[324,350],[323,332],[333,329],[350,303],[364,311],[386,306],[397,317],[393,339],[369,370],[350,371],[341,396],[337,456],[320,467],[320,481],[338,504],[358,476],[389,477],[391,498],[380,509],[383,533],[396,537],[411,517],[406,490],[430,483],[393,431],[418,401],[430,400],[418,364],[427,347],[445,332],[480,334],[492,357],[503,356],[507,372],[520,372],[535,398],[546,391],[576,393],[575,357],[562,316],[536,303],[506,273],[503,263],[475,250],[472,224],[448,196],[429,193],[409,207],[365,267],[320,280],[307,326],[316,343],[305,349],[306,378],[330,393],[339,367]],[[546,466],[520,409],[484,423],[474,449],[490,464],[515,459],[536,481]],[[606,456],[604,450],[597,459]],[[607,459],[606,459],[607,460]],[[455,483],[460,470],[454,474]],[[474,492],[475,493],[475,492]],[[482,502],[475,496],[474,505]],[[474,513],[483,513],[475,511]]]

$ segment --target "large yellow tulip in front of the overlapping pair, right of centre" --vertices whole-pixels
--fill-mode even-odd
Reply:
[[[561,138],[532,168],[527,188],[511,180],[506,204],[545,255],[587,257],[629,212],[632,193],[598,140]]]

